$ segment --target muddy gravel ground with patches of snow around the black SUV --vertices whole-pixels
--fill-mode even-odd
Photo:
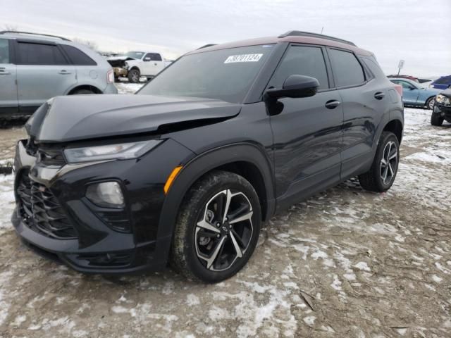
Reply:
[[[13,177],[0,176],[0,337],[451,337],[451,125],[405,115],[388,193],[350,180],[292,206],[247,267],[214,285],[39,258],[13,231]],[[0,130],[3,163],[20,137]]]

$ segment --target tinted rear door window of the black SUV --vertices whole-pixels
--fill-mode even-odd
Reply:
[[[347,87],[365,82],[364,70],[357,58],[349,51],[329,49],[335,87]]]

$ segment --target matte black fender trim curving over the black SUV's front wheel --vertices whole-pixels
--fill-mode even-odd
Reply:
[[[183,202],[185,194],[194,182],[214,168],[237,161],[252,163],[259,168],[266,189],[267,208],[265,216],[267,219],[268,215],[273,214],[276,205],[273,170],[270,160],[264,153],[264,149],[259,148],[256,144],[243,142],[206,151],[183,165],[183,169],[180,170],[180,173],[175,178],[163,203],[157,237],[168,238],[172,236],[180,205]],[[164,248],[159,248],[162,250],[160,252],[166,252],[167,254],[165,256],[168,256],[171,247],[170,243],[162,241],[160,245],[165,246]]]

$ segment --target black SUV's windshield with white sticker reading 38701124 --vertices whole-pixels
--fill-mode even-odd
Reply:
[[[183,56],[137,94],[193,96],[241,103],[273,45],[245,46]]]

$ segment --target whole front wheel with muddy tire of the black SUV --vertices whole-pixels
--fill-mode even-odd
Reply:
[[[235,173],[211,172],[194,183],[183,200],[171,265],[193,280],[226,280],[249,261],[260,225],[260,203],[252,184]]]

